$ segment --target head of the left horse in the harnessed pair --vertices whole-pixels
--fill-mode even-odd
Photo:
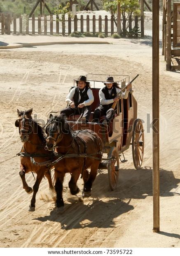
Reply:
[[[19,135],[23,143],[29,140],[29,135],[33,130],[33,119],[31,117],[32,111],[33,109],[28,109],[26,111],[19,111],[19,109],[17,109],[19,119],[15,121],[15,126],[19,127]]]

